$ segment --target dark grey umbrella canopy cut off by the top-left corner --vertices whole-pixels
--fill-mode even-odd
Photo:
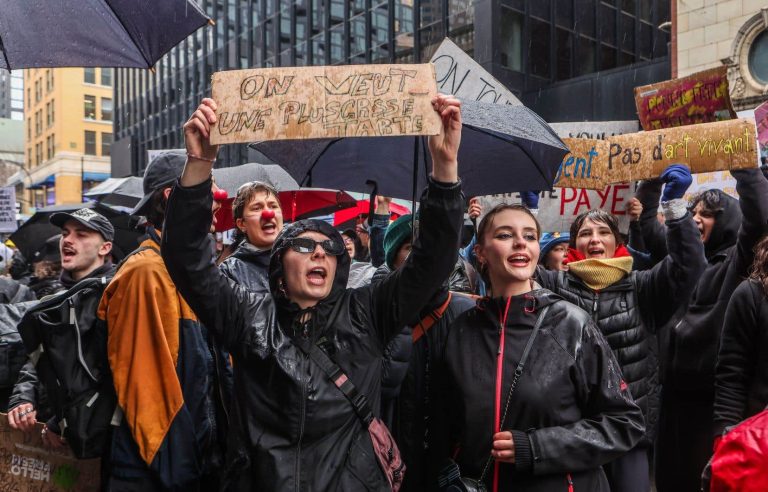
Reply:
[[[210,21],[192,0],[7,0],[0,68],[151,68]]]

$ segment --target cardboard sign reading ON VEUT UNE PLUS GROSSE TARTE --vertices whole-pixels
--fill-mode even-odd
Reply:
[[[212,144],[436,135],[435,71],[421,65],[280,67],[216,72]]]

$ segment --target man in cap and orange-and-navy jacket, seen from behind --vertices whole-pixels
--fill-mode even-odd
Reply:
[[[144,197],[133,214],[147,218],[149,237],[123,262],[99,305],[124,415],[113,432],[107,485],[112,491],[218,488],[217,436],[223,425],[217,403],[223,393],[216,376],[226,358],[211,349],[205,327],[160,257],[166,203],[186,159],[164,152],[147,167]],[[212,212],[219,206],[214,202]]]

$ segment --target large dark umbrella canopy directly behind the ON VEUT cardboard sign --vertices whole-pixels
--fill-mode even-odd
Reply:
[[[468,196],[548,190],[568,152],[525,106],[462,102],[459,176]],[[431,168],[427,137],[361,137],[251,144],[303,186],[322,186],[410,198],[426,186]]]

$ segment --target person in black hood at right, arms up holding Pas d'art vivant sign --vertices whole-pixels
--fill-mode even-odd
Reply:
[[[659,492],[697,491],[712,454],[715,364],[726,308],[747,278],[754,247],[768,231],[768,180],[760,169],[731,171],[735,199],[721,190],[696,195],[689,209],[704,243],[706,265],[661,341],[663,395],[656,443]],[[645,244],[658,258],[672,243],[655,217],[660,185],[641,184]],[[647,211],[647,212],[646,212]]]

